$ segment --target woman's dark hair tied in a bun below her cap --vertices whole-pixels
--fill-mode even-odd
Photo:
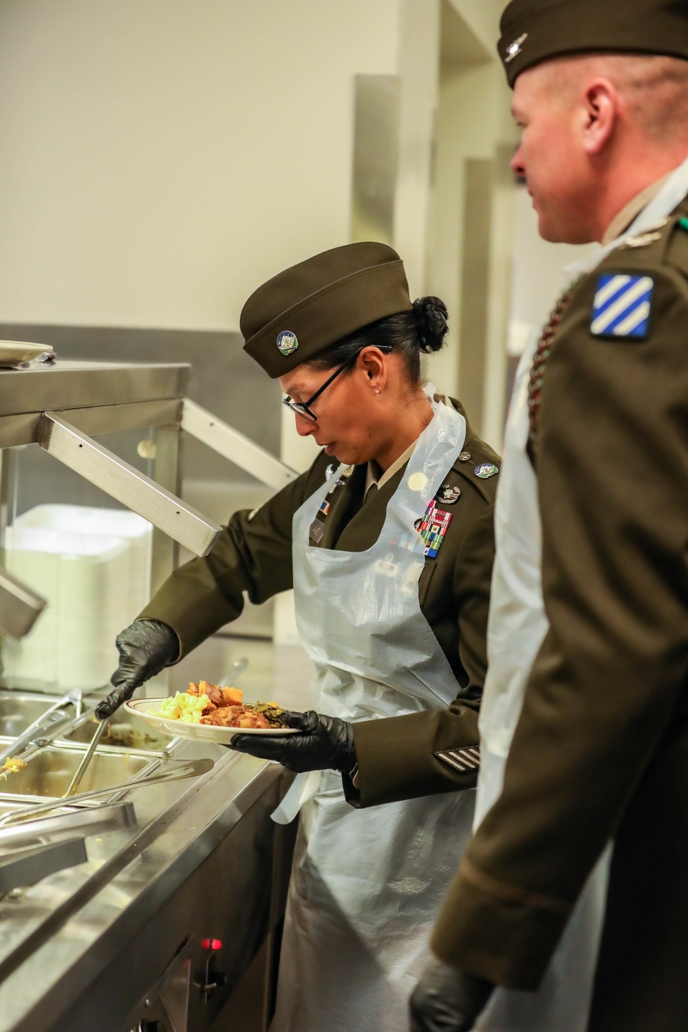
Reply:
[[[362,326],[307,364],[316,369],[333,369],[353,359],[362,348],[375,347],[400,354],[408,380],[415,386],[421,382],[421,352],[429,355],[444,346],[449,329],[447,319],[447,305],[438,297],[419,297],[412,312],[398,312]],[[352,362],[352,368],[353,365]]]

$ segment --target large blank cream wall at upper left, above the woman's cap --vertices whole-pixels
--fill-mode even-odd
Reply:
[[[0,321],[236,328],[346,243],[399,0],[3,0]]]

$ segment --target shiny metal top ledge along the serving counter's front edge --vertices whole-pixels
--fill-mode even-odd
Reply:
[[[272,764],[226,753],[139,827],[133,840],[121,835],[121,848],[104,862],[96,860],[34,886],[31,902],[38,921],[14,949],[0,956],[0,1032],[58,1028],[60,1013],[88,991],[122,944],[281,776]],[[146,792],[151,789],[141,787],[129,795],[141,813]],[[6,912],[11,905],[11,895],[0,903],[1,924],[11,920]]]

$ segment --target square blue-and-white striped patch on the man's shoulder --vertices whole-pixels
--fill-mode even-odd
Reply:
[[[650,332],[655,281],[651,276],[602,272],[592,308],[593,336],[646,341]]]

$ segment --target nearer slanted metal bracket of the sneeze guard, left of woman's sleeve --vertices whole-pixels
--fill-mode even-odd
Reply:
[[[207,555],[222,527],[166,491],[55,413],[43,413],[40,447],[143,516],[195,555]]]

